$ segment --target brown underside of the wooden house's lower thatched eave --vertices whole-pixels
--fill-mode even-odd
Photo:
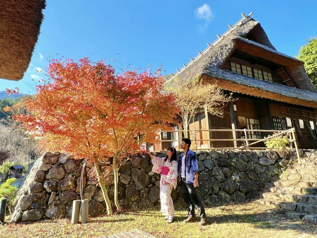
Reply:
[[[304,106],[304,107],[310,107],[310,108],[317,109],[317,102],[314,102],[314,101],[308,101],[308,100],[304,100],[304,99],[301,99],[298,97],[291,97],[291,96],[287,96],[287,95],[283,95],[283,94],[278,94],[278,93],[274,93],[274,92],[265,90],[265,89],[260,88],[260,87],[245,85],[245,84],[241,84],[241,83],[237,83],[234,81],[221,79],[221,78],[213,78],[213,77],[210,77],[208,75],[202,75],[201,78],[202,78],[204,83],[211,83],[211,84],[217,83],[217,86],[219,88],[229,90],[231,92],[243,93],[243,94],[247,94],[250,96],[262,97],[262,98],[271,99],[271,100],[275,100],[275,101],[279,101],[279,102],[286,102],[286,103],[290,103],[290,104],[295,104],[295,105],[300,105],[300,106]],[[258,79],[254,79],[254,80],[258,80]],[[261,82],[263,82],[263,81],[261,81]],[[268,83],[268,82],[263,82],[263,83]],[[287,86],[280,85],[280,84],[276,84],[276,86],[277,87],[287,87]],[[292,90],[299,90],[301,93],[306,92],[306,91],[301,90],[301,89],[293,89],[292,88]],[[311,93],[311,92],[307,92],[307,93]],[[315,94],[317,96],[317,93],[315,93]]]

